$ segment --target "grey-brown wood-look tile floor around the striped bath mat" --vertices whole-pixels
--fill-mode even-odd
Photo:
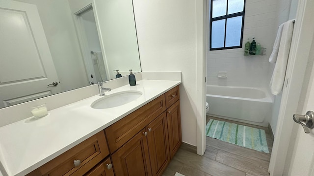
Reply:
[[[209,118],[265,130],[268,149],[271,152],[272,139],[266,127],[209,116],[207,116],[207,122]],[[206,137],[204,156],[196,153],[196,147],[183,143],[162,176],[174,176],[176,172],[185,176],[269,176],[270,154],[211,137]]]

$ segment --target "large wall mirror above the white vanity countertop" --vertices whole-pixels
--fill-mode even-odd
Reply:
[[[141,71],[132,0],[1,0],[0,108],[130,69]]]

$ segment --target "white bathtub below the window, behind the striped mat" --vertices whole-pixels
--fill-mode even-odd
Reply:
[[[207,86],[208,115],[267,127],[271,95],[259,88]]]

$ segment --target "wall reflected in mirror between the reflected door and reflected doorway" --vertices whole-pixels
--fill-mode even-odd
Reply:
[[[62,91],[88,85],[70,7],[65,0],[17,0],[37,5]]]

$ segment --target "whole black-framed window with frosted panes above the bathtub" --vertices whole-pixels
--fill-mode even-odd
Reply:
[[[210,1],[210,50],[241,48],[245,0]]]

